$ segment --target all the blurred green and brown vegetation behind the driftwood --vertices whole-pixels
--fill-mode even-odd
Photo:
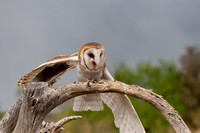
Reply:
[[[121,62],[114,67],[113,76],[118,81],[137,84],[162,95],[179,112],[192,132],[200,132],[199,47],[187,47],[185,53],[180,55],[180,62],[176,63],[160,59],[156,64],[150,61],[140,62],[132,68]],[[139,99],[129,98],[147,133],[174,133],[169,123],[155,108]],[[3,112],[0,117],[2,115]],[[114,125],[111,110],[106,105],[101,112],[73,112],[71,108],[65,107],[48,115],[46,120],[56,122],[71,115],[82,115],[83,118],[67,123],[64,126],[67,133],[119,132]]]

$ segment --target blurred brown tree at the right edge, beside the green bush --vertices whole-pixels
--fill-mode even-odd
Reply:
[[[187,106],[186,121],[193,128],[200,127],[200,48],[189,46],[180,57],[184,86],[182,99]]]

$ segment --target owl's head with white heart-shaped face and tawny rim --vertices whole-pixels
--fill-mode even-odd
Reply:
[[[89,71],[97,71],[106,66],[104,47],[96,42],[83,45],[79,51],[79,65]]]

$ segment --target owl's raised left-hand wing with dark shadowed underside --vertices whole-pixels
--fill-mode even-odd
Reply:
[[[47,82],[49,86],[53,85],[60,76],[66,71],[73,69],[78,63],[78,53],[70,56],[58,56],[48,60],[31,72],[23,76],[18,81],[18,86],[25,86],[31,82]]]

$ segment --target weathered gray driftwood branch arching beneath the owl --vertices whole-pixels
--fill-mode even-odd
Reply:
[[[144,89],[137,85],[127,85],[119,81],[99,81],[99,82],[82,82],[68,84],[57,88],[49,88],[46,83],[32,83],[23,89],[22,104],[19,105],[20,113],[9,114],[10,117],[18,117],[10,126],[9,131],[14,133],[37,133],[40,131],[42,121],[46,115],[55,107],[73,97],[88,93],[107,93],[118,92],[124,93],[141,100],[144,100],[156,109],[168,120],[177,133],[190,133],[189,128],[179,116],[177,111],[171,107],[161,96],[150,90]],[[17,105],[16,105],[17,106]],[[10,111],[8,111],[10,112]],[[4,116],[5,117],[5,116]],[[5,120],[4,118],[2,120]],[[0,132],[6,129],[2,128],[6,123],[1,121]],[[16,125],[16,126],[15,126]]]

